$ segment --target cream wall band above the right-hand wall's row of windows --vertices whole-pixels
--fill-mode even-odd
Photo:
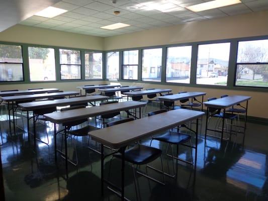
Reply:
[[[268,11],[105,38],[105,50],[268,35]]]

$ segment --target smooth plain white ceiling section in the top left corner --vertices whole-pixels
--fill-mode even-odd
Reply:
[[[0,32],[60,0],[0,0]]]

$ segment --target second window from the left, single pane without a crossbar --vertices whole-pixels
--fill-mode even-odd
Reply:
[[[52,48],[28,47],[31,81],[55,81],[55,53]]]

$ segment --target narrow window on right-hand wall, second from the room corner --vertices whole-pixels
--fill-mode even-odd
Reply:
[[[138,79],[138,59],[138,50],[123,52],[123,79]]]

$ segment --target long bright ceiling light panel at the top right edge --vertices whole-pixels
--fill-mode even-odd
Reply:
[[[186,8],[193,12],[200,12],[200,11],[206,11],[210,9],[230,6],[233,4],[239,4],[239,3],[241,3],[240,0],[215,0],[215,1],[197,4],[197,5],[186,7]]]

